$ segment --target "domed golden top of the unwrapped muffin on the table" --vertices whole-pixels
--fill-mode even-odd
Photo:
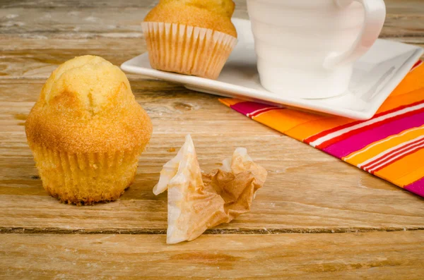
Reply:
[[[152,124],[117,66],[99,56],[78,56],[47,79],[25,131],[30,145],[73,153],[114,152],[143,149]]]

